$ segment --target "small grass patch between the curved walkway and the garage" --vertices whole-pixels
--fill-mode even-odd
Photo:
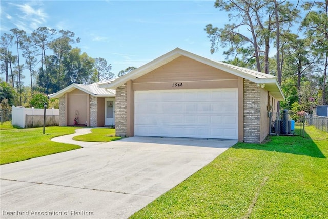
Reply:
[[[91,129],[91,132],[90,134],[75,136],[73,139],[84,142],[110,142],[121,139],[121,137],[115,137],[115,129],[95,128]]]

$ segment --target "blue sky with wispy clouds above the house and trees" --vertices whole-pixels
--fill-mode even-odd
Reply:
[[[0,31],[18,28],[30,34],[44,26],[70,30],[81,38],[77,47],[93,58],[105,58],[116,75],[176,47],[222,61],[222,52],[211,55],[204,31],[209,23],[222,27],[228,22],[214,2],[1,0]]]

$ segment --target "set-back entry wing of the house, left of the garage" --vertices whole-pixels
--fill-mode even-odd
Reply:
[[[49,98],[59,98],[59,126],[115,126],[115,89],[101,88],[103,83],[71,84]]]

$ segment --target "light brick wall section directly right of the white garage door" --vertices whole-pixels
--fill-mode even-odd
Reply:
[[[261,89],[244,79],[244,142],[260,142]]]

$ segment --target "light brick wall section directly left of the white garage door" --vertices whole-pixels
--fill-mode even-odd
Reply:
[[[116,88],[115,97],[115,135],[127,135],[127,85]]]

